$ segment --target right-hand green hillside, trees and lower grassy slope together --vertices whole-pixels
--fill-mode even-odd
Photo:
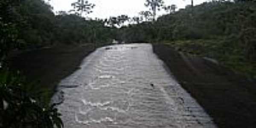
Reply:
[[[212,1],[120,29],[131,42],[165,42],[256,76],[256,2]]]

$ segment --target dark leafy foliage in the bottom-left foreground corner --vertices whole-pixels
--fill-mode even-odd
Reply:
[[[0,127],[1,128],[58,128],[63,127],[61,114],[55,107],[41,102],[29,93],[19,73],[0,70]]]

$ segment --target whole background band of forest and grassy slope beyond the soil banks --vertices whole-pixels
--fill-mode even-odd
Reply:
[[[175,5],[164,5],[163,0],[158,0],[158,5],[153,2],[146,1],[151,10],[140,12],[140,17],[120,15],[92,20],[79,16],[83,11],[91,12],[94,5],[90,3],[89,10],[81,6],[74,10],[80,13],[55,15],[44,0],[2,0],[0,58],[3,60],[9,49],[15,48],[109,43],[112,39],[166,42],[192,54],[216,58],[235,70],[256,74],[256,2],[214,0],[178,11]],[[169,14],[155,19],[158,8]],[[127,21],[131,24],[122,26]]]

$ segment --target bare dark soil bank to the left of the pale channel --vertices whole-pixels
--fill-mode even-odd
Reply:
[[[35,84],[35,90],[46,92],[49,102],[58,82],[77,70],[93,50],[93,45],[62,45],[16,53],[8,62],[10,69],[20,70],[28,82]]]

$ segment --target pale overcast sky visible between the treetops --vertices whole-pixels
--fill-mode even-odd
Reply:
[[[50,4],[56,11],[69,11],[72,9],[71,3],[77,0],[51,0]],[[128,15],[129,17],[137,16],[140,11],[145,11],[145,0],[88,0],[90,3],[96,4],[93,13],[88,17],[108,18],[110,16]],[[194,4],[200,4],[207,0],[194,0]],[[177,5],[178,8],[184,8],[190,4],[190,0],[164,0],[166,5]],[[163,14],[164,12],[158,13]]]

